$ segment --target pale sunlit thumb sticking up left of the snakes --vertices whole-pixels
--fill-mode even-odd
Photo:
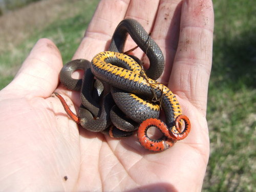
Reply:
[[[61,67],[61,55],[54,43],[39,39],[5,91],[14,97],[49,97],[57,87]]]

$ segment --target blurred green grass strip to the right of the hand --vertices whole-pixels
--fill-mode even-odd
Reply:
[[[203,191],[256,188],[256,3],[214,1],[215,39]]]

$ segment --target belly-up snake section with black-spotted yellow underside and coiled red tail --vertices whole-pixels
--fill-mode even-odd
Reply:
[[[129,63],[131,70],[125,70],[124,68],[112,65],[111,62],[108,62],[110,60],[109,58],[121,60],[123,63]],[[159,125],[159,121],[156,118],[145,119],[140,124],[138,139],[142,146],[150,151],[164,151],[172,146],[174,141],[187,137],[190,132],[190,121],[182,114],[180,104],[172,91],[163,84],[148,78],[143,71],[137,73],[137,68],[139,68],[139,65],[136,66],[136,61],[118,52],[101,52],[91,62],[93,74],[101,81],[107,81],[111,86],[129,93],[151,97],[154,92],[157,98],[161,98],[161,107],[165,113],[166,122],[160,123],[161,125]],[[141,102],[143,103],[143,101]],[[148,103],[145,102],[143,104],[147,105]],[[156,122],[154,123],[154,121]],[[183,131],[181,131],[181,121],[184,121],[185,124]],[[156,126],[167,139],[150,139],[146,131],[151,126]]]

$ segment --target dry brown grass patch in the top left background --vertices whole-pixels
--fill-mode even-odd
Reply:
[[[14,49],[35,30],[41,30],[57,19],[76,15],[82,10],[81,6],[76,6],[81,1],[90,0],[45,0],[2,15],[0,53]]]

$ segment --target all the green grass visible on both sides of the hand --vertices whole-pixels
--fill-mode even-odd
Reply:
[[[69,61],[97,1],[81,1],[73,17],[35,31],[12,51],[0,52],[0,89],[13,78],[38,38],[52,39]],[[83,5],[82,5],[83,4]],[[215,38],[207,119],[210,159],[203,191],[253,191],[256,188],[256,3],[214,0]],[[8,64],[7,64],[8,63]],[[7,73],[1,73],[1,68]]]

